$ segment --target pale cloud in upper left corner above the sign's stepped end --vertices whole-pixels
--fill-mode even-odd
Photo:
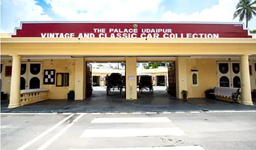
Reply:
[[[14,27],[20,27],[23,21],[51,21],[43,8],[34,0],[1,1],[1,33],[13,33]]]

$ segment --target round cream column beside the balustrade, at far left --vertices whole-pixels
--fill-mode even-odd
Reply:
[[[12,55],[11,91],[8,108],[16,108],[20,106],[20,68],[21,56]]]

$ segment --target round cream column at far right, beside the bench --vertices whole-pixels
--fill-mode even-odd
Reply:
[[[242,104],[253,105],[251,100],[251,83],[249,75],[249,55],[240,55],[241,83],[242,83]]]

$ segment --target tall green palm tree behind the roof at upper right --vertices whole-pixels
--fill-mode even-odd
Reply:
[[[253,7],[254,4],[256,4],[256,0],[253,2],[251,2],[251,0],[240,0],[238,5],[236,5],[236,12],[234,12],[233,17],[237,18],[239,16],[239,22],[242,22],[245,18],[246,28],[248,27],[248,22],[253,18],[253,15],[256,16],[256,7]]]

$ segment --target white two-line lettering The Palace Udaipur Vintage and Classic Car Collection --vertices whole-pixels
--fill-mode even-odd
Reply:
[[[107,33],[106,33],[107,32]],[[172,29],[93,29],[90,33],[41,33],[42,38],[219,38],[218,33],[175,33]]]

